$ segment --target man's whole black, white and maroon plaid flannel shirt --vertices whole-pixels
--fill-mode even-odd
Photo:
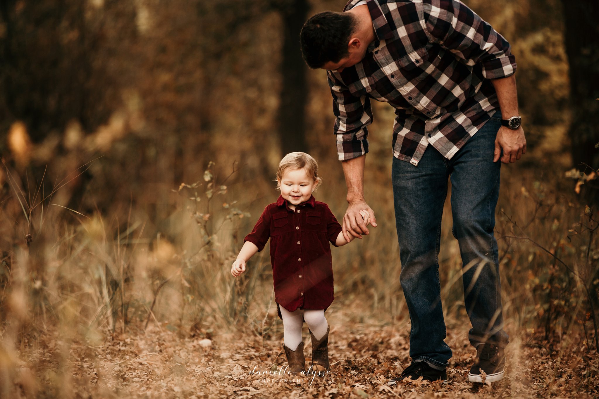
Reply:
[[[430,144],[451,159],[498,108],[489,79],[516,71],[510,44],[458,0],[367,0],[367,6],[376,39],[364,59],[327,71],[338,159],[368,153],[371,98],[395,108],[396,158],[418,165]]]

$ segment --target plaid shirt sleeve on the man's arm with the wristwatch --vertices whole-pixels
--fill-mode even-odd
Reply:
[[[458,0],[424,0],[425,32],[431,42],[446,48],[466,65],[482,66],[486,79],[516,72],[510,44],[491,25]]]

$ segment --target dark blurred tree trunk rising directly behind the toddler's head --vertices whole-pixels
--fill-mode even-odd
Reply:
[[[299,31],[307,17],[306,0],[280,4],[283,19],[282,89],[279,105],[279,137],[283,154],[307,151],[305,143],[306,71],[299,49]]]

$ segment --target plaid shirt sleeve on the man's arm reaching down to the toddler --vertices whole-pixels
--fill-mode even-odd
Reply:
[[[338,159],[346,161],[367,154],[367,126],[373,121],[370,98],[352,95],[334,72],[326,71],[326,74],[333,96]]]

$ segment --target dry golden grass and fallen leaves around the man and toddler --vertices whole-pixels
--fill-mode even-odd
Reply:
[[[168,188],[173,212],[155,233],[144,209],[132,205],[120,214],[80,215],[44,202],[42,214],[41,203],[31,206],[39,187],[29,189],[30,197],[19,173],[5,170],[12,180],[0,208],[2,397],[598,394],[590,309],[599,252],[589,234],[597,223],[590,209],[576,205],[572,184],[556,174],[504,170],[496,233],[511,340],[506,380],[492,386],[465,380],[474,350],[467,345],[461,261],[447,217],[440,263],[447,342],[455,351],[450,383],[389,390],[387,380],[409,364],[409,318],[391,190],[374,184],[385,180],[378,170],[367,175],[367,190],[380,227],[334,249],[331,377],[299,385],[249,374],[254,366],[280,370],[286,363],[268,251],[250,261],[242,278],[229,274],[255,219],[249,213],[258,214],[268,194],[234,202],[243,198],[237,172],[225,188],[225,177],[210,166],[195,186]],[[319,196],[341,216],[343,202],[333,193],[343,192],[343,181],[329,175],[325,182]]]

